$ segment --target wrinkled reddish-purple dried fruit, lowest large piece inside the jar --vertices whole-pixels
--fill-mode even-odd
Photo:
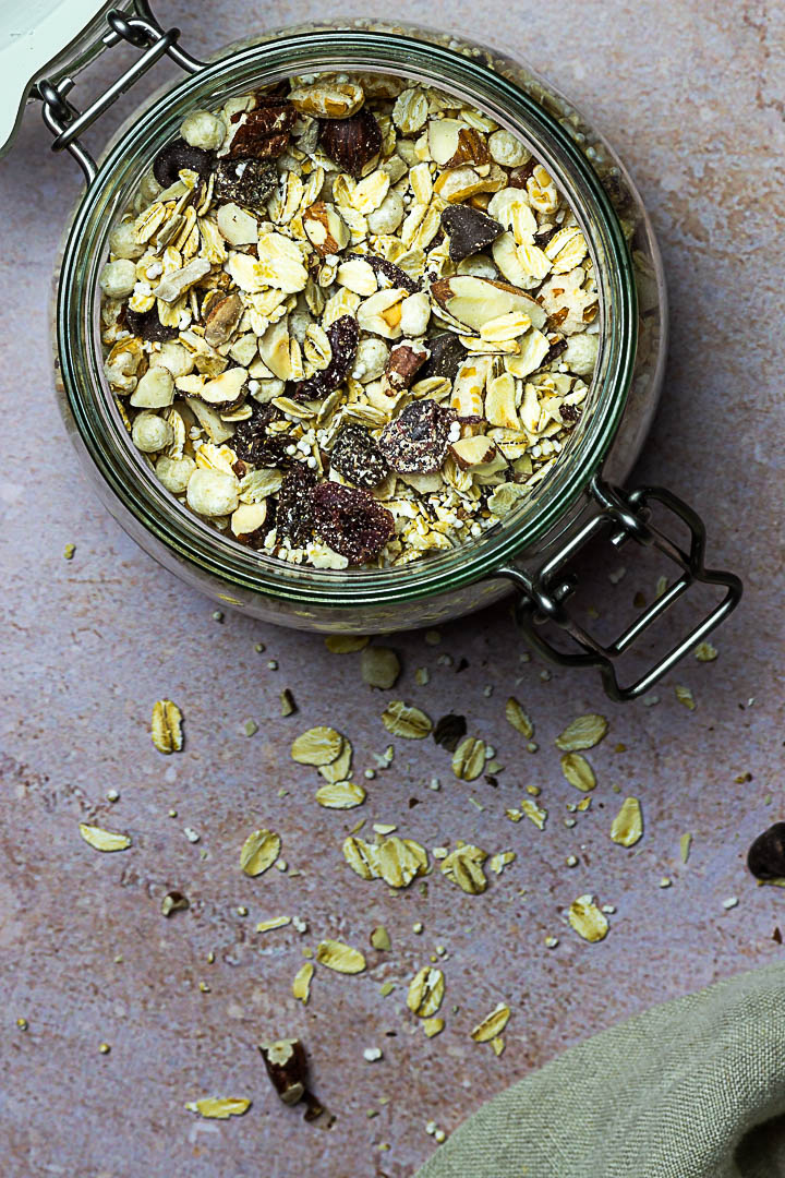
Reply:
[[[368,491],[354,487],[319,483],[313,509],[317,535],[350,564],[372,561],[395,534],[392,514]]]

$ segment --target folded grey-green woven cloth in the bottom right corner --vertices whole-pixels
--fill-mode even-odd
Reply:
[[[572,1047],[485,1104],[417,1178],[785,1178],[785,966]]]

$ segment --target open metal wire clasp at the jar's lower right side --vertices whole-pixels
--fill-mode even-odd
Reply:
[[[612,700],[634,700],[647,691],[663,675],[688,654],[711,630],[736,609],[743,593],[739,577],[733,573],[706,569],[704,552],[706,529],[692,508],[671,491],[661,487],[640,487],[634,491],[623,491],[610,487],[599,477],[591,483],[594,498],[592,517],[572,535],[565,544],[550,557],[537,571],[506,567],[499,570],[500,576],[508,577],[523,590],[523,597],[515,608],[519,624],[526,631],[528,641],[552,662],[567,667],[597,667],[603,677],[603,684]],[[650,523],[650,505],[659,503],[681,519],[690,530],[690,547],[683,549],[673,540]],[[626,541],[653,547],[673,561],[680,569],[680,576],[663,593],[657,601],[643,610],[637,620],[614,642],[603,644],[580,627],[567,610],[565,602],[576,588],[574,577],[565,576],[565,564],[584,548],[600,530],[612,529],[611,543],[619,548]],[[623,687],[617,677],[614,660],[628,650],[681,594],[696,583],[720,585],[726,589],[721,601],[687,635],[677,642],[667,654],[654,663],[633,683]],[[544,634],[543,623],[554,622],[577,646],[576,650],[565,651],[556,647]]]

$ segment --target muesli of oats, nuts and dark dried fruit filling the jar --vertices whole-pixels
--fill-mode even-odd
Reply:
[[[479,538],[588,393],[599,300],[570,206],[432,87],[319,74],[193,111],[109,249],[105,371],[134,445],[293,564]]]

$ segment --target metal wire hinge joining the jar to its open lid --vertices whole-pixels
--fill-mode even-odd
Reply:
[[[135,16],[127,16],[117,8],[107,13],[106,21],[109,31],[101,38],[101,41],[106,48],[111,48],[120,41],[127,41],[145,52],[85,111],[78,111],[66,97],[73,90],[73,78],[62,78],[59,81],[41,78],[35,86],[34,97],[40,98],[44,121],[54,135],[52,151],[62,151],[64,148],[68,151],[81,167],[88,184],[95,179],[98,165],[79,139],[82,131],[89,127],[118,100],[120,94],[129,90],[165,54],[188,73],[198,73],[205,66],[204,61],[199,61],[179,46],[179,28],[166,31],[161,28],[151,11],[148,0],[134,0],[134,8],[138,14]]]

